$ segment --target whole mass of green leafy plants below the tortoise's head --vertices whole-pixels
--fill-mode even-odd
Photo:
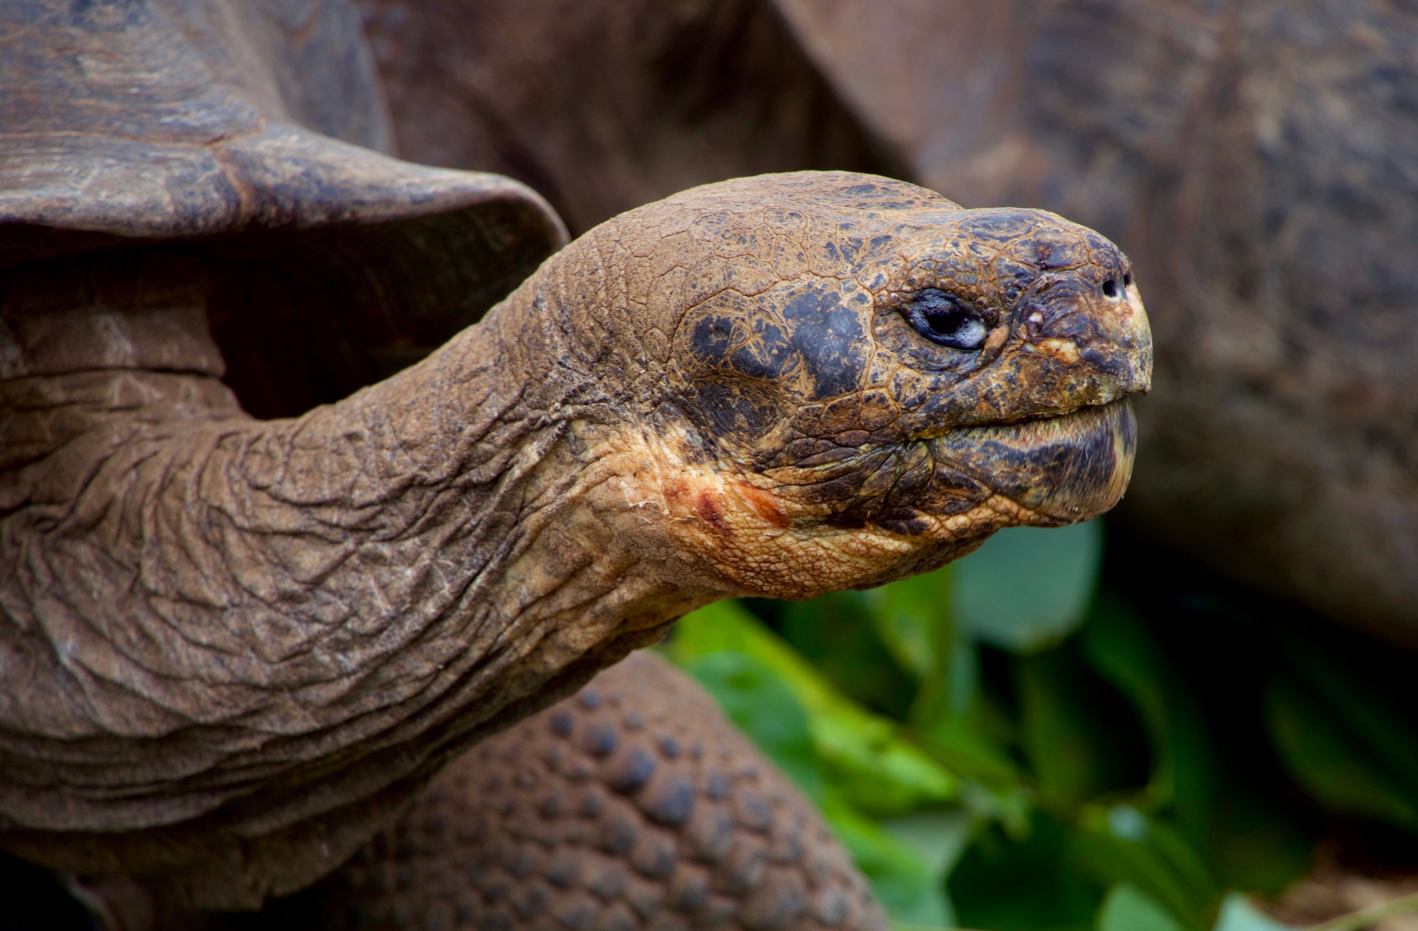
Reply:
[[[1228,890],[1305,871],[1302,792],[1418,832],[1401,668],[1380,688],[1368,654],[1288,617],[1168,627],[1099,588],[1102,549],[1098,522],[1005,531],[872,592],[713,605],[666,653],[822,809],[902,927],[1276,931]]]

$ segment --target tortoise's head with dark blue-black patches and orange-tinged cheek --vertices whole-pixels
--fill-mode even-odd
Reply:
[[[801,173],[590,238],[645,304],[608,368],[658,383],[611,444],[608,500],[733,589],[881,585],[1123,495],[1151,338],[1132,265],[1092,230]]]

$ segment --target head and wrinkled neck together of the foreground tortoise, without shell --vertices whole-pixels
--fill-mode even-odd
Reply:
[[[983,343],[913,329],[923,291]],[[254,420],[180,365],[0,382],[27,439],[3,473],[0,846],[187,907],[301,888],[696,606],[1107,509],[1150,363],[1096,233],[797,173],[607,221],[302,417]]]

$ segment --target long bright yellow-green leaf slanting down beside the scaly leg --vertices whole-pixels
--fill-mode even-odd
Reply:
[[[875,815],[902,815],[954,799],[957,779],[900,727],[841,694],[811,663],[743,607],[719,602],[682,619],[666,651],[693,671],[718,651],[753,657],[771,670],[807,715],[813,747],[832,783],[854,805]]]

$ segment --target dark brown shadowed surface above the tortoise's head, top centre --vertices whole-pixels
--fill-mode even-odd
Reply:
[[[526,182],[573,233],[708,182],[908,177],[770,0],[363,0],[403,158]]]

